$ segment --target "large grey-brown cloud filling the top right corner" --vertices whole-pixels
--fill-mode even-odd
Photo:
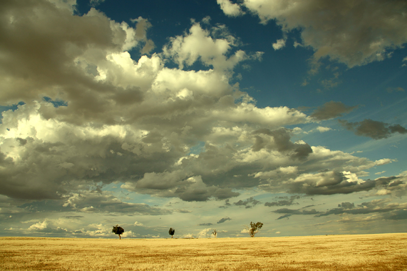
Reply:
[[[285,34],[301,29],[301,44],[314,50],[315,61],[329,56],[352,68],[382,61],[407,42],[402,0],[385,5],[379,0],[245,0],[241,6],[256,14],[263,24],[276,21]]]

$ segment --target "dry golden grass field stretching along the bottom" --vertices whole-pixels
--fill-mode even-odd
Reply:
[[[0,270],[407,270],[407,233],[122,240],[0,237]]]

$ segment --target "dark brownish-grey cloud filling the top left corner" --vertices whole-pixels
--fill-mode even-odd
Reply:
[[[103,108],[108,106],[108,100],[102,102],[97,96],[113,86],[96,81],[92,73],[99,72],[96,67],[109,55],[137,48],[145,37],[137,37],[127,23],[111,21],[93,8],[88,14],[73,16],[70,4],[74,3],[38,0],[0,4],[0,17],[7,21],[1,27],[2,54],[8,55],[0,74],[9,78],[0,86],[12,89],[2,92],[2,104],[47,96],[62,101],[69,97],[73,107],[86,103],[89,111],[96,110],[93,106],[99,103]],[[26,92],[27,88],[31,91]],[[61,94],[57,89],[62,90],[62,96],[57,97]]]

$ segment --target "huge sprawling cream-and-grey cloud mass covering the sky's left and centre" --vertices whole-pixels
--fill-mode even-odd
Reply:
[[[225,26],[193,23],[162,52],[149,54],[147,19],[133,19],[133,27],[93,8],[74,15],[72,3],[0,4],[1,54],[7,56],[0,75],[8,78],[0,81],[0,101],[9,109],[0,125],[0,193],[22,206],[7,212],[43,212],[46,202],[59,212],[189,212],[125,202],[103,192],[113,182],[184,201],[227,200],[254,187],[401,193],[395,188],[402,185],[359,178],[379,162],[293,142],[298,129],[284,127],[353,107],[330,102],[313,117],[286,106],[257,107],[231,78],[237,65],[260,59],[261,52],[241,50]],[[133,59],[130,50],[141,56]],[[197,62],[205,69],[193,70]]]

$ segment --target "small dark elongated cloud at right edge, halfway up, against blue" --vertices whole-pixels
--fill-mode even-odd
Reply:
[[[399,124],[389,125],[383,122],[372,121],[369,118],[356,123],[350,123],[340,119],[339,123],[347,130],[353,131],[356,135],[367,136],[376,140],[388,138],[396,132],[400,134],[407,133],[407,129]]]

